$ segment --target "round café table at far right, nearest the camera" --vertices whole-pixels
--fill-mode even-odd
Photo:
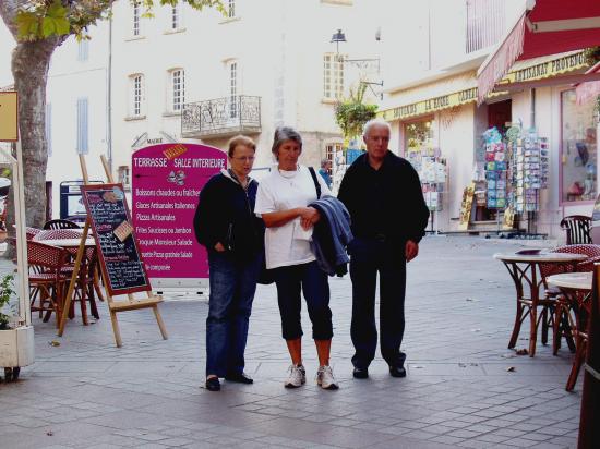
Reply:
[[[587,340],[589,316],[591,312],[591,284],[593,274],[590,272],[564,272],[549,276],[545,281],[549,284],[557,287],[564,295],[557,304],[555,319],[560,319],[563,313],[568,314],[568,308],[575,314],[575,323],[569,323],[571,331],[575,336],[575,359],[568,375],[565,390],[571,391],[575,388],[577,377],[584,363]],[[565,308],[563,311],[563,308]],[[571,315],[569,315],[571,316]]]

